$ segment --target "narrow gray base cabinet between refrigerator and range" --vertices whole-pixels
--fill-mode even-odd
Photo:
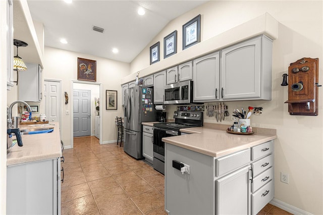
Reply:
[[[149,162],[153,162],[153,130],[151,126],[142,126],[142,155]]]

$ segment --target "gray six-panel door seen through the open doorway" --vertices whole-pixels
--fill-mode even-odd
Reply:
[[[73,137],[91,135],[90,101],[90,90],[73,90]]]

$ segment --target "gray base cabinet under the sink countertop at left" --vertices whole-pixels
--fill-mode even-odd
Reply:
[[[7,214],[61,214],[61,159],[7,167]]]

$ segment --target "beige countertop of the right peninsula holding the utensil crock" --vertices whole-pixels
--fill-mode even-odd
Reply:
[[[225,127],[220,129],[204,126],[180,131],[190,134],[164,137],[162,140],[213,157],[224,156],[277,138],[275,129],[263,128],[254,128],[255,133],[250,135],[230,134]]]

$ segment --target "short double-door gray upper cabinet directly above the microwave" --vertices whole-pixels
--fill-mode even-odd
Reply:
[[[192,61],[166,70],[167,84],[174,84],[181,81],[192,80]]]

